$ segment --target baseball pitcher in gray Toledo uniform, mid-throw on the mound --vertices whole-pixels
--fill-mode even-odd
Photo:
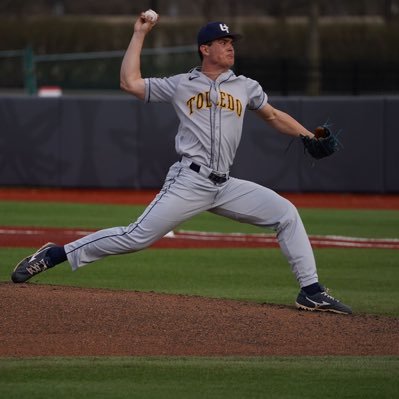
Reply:
[[[136,20],[122,61],[120,84],[144,102],[173,105],[180,120],[175,138],[179,161],[170,167],[161,191],[136,221],[100,230],[65,246],[48,243],[16,266],[12,280],[25,282],[64,261],[76,270],[108,255],[137,252],[187,219],[209,211],[274,229],[300,287],[296,299],[299,309],[352,313],[319,283],[313,251],[294,205],[269,188],[234,178],[229,172],[246,110],[256,112],[277,132],[302,140],[317,159],[335,152],[334,135],[324,127],[316,137],[274,108],[258,82],[234,74],[234,45],[241,36],[224,22],[208,23],[198,32],[201,66],[162,79],[144,78],[141,50],[157,22],[158,15],[152,10]]]

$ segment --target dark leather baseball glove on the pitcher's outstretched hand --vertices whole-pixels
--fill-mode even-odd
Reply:
[[[336,135],[332,134],[330,129],[324,125],[315,129],[315,137],[310,138],[301,135],[302,143],[313,158],[321,159],[334,154],[338,150],[338,140]]]

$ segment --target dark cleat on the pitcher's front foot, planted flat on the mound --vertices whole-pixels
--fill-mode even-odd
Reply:
[[[327,293],[327,290],[318,292],[314,295],[307,295],[305,291],[301,290],[298,294],[295,303],[296,307],[300,310],[320,311],[320,312],[333,312],[340,314],[351,314],[352,309],[333,298]]]

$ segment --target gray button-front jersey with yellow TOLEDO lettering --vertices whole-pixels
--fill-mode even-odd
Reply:
[[[258,82],[232,71],[216,81],[198,69],[146,79],[146,101],[170,102],[180,120],[176,151],[193,162],[228,172],[241,140],[244,111],[267,103]]]

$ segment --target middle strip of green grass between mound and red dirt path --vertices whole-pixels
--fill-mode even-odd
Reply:
[[[1,248],[0,280],[9,280],[10,265],[29,252]],[[356,313],[399,316],[399,251],[318,249],[315,254],[321,282]],[[149,249],[108,257],[76,272],[65,263],[31,281],[287,305],[298,293],[279,249]]]

